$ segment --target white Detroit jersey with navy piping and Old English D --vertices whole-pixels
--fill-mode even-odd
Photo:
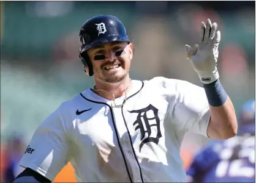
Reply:
[[[205,90],[154,77],[132,80],[127,95],[122,107],[91,89],[63,102],[37,128],[20,165],[51,181],[70,162],[78,182],[186,182],[181,142],[187,131],[207,137]]]

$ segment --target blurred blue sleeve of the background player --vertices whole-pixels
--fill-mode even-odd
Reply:
[[[218,148],[218,144],[208,145],[195,155],[187,170],[187,176],[198,181],[208,173],[209,168],[219,161],[219,155],[214,148]]]

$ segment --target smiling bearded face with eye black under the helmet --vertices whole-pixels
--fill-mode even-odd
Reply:
[[[105,82],[119,82],[130,70],[132,43],[114,41],[88,50],[94,77]]]

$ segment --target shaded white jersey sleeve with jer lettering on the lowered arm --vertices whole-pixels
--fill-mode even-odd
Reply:
[[[32,135],[20,160],[21,167],[31,168],[53,181],[69,162],[69,142],[61,118],[61,107],[51,113]]]

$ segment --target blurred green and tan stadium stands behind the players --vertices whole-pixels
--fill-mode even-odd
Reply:
[[[78,32],[99,14],[118,16],[134,40],[132,79],[165,76],[197,85],[184,45],[197,43],[201,21],[210,18],[221,31],[220,81],[236,112],[255,98],[255,1],[1,1],[1,178],[48,114],[93,87],[78,59]],[[186,135],[186,168],[206,143]],[[55,180],[72,181],[70,165]]]

